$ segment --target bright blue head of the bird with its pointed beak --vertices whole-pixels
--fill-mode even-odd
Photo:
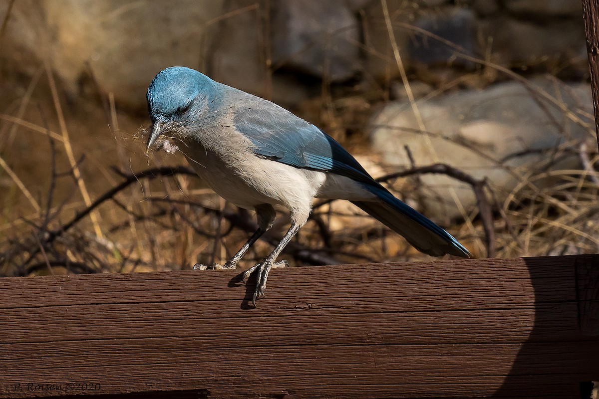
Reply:
[[[214,81],[194,69],[171,66],[159,72],[147,92],[152,119],[146,151],[162,133],[182,133],[205,108]]]

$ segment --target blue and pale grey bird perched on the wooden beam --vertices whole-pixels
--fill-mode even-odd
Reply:
[[[271,268],[288,264],[277,258],[307,222],[314,198],[349,200],[425,254],[470,257],[451,234],[375,181],[331,136],[273,102],[195,69],[171,66],[150,83],[147,106],[152,124],[146,153],[159,137],[173,139],[219,196],[256,212],[258,229],[230,260],[194,269],[235,269],[273,226],[275,207],[289,211],[289,230],[243,274],[246,280],[256,272],[254,307],[264,297]]]

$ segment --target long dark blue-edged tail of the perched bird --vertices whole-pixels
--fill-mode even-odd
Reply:
[[[389,229],[401,234],[418,251],[432,256],[445,254],[469,258],[468,249],[453,236],[420,212],[401,202],[382,186],[368,190],[379,197],[377,201],[352,201]]]

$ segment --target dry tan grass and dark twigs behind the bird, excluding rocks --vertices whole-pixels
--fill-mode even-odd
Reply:
[[[391,31],[391,19],[386,17]],[[509,69],[486,59],[476,62],[481,68],[468,72],[467,78],[489,83],[489,76],[503,74],[527,85]],[[84,98],[63,109],[60,88],[52,74],[44,79],[43,71],[26,85],[24,95],[14,90],[12,99],[1,104],[0,275],[189,269],[196,262],[224,263],[245,242],[255,228],[251,214],[223,202],[189,170],[168,167],[185,165],[182,157],[145,156],[139,130],[147,123],[144,117],[118,109],[111,93],[99,93],[108,110]],[[352,153],[376,163],[364,129],[372,110],[388,99],[387,90],[356,94],[325,86],[322,98],[300,107],[302,115],[325,127]],[[11,83],[4,83],[3,91],[11,89]],[[568,109],[535,87],[530,90],[558,106],[564,118],[590,126],[591,115]],[[478,257],[597,252],[596,149],[590,129],[588,141],[570,141],[553,149],[552,159],[576,154],[582,166],[521,173],[518,187],[502,203],[489,188],[492,182],[491,186],[480,182],[486,208],[462,209],[463,220],[447,230]],[[500,161],[497,167],[507,168]],[[143,170],[150,172],[140,173]],[[543,185],[537,184],[541,181]],[[418,187],[415,178],[385,182],[398,196]],[[407,200],[417,201],[418,192]],[[485,212],[488,217],[481,217]],[[282,213],[272,232],[256,243],[240,266],[264,257],[286,227]],[[295,266],[430,259],[339,201],[316,202],[287,257],[295,260]]]

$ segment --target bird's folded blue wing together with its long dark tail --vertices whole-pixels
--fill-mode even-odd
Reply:
[[[425,254],[468,257],[470,252],[420,212],[374,181],[331,136],[274,103],[256,98],[259,109],[235,110],[235,128],[255,145],[258,156],[303,169],[332,172],[365,183],[380,202],[354,202]]]

